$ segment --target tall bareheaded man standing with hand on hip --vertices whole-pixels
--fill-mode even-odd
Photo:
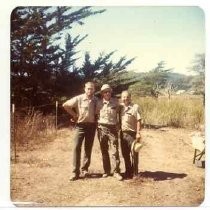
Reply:
[[[83,176],[88,176],[88,167],[91,161],[91,152],[96,130],[96,97],[95,85],[92,82],[85,84],[85,93],[75,96],[63,104],[64,109],[76,122],[76,133],[73,147],[73,170],[70,180],[74,181],[80,175],[81,147],[84,142],[84,159],[81,167]]]

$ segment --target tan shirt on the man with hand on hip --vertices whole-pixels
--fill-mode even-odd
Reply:
[[[68,109],[75,108],[78,116],[78,123],[92,123],[95,122],[96,101],[97,98],[95,96],[91,100],[89,100],[86,94],[81,94],[66,101],[63,104],[63,107],[65,107],[67,111]]]

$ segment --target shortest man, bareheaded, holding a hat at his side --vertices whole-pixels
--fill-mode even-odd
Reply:
[[[137,152],[131,154],[131,145],[136,140],[140,142],[141,115],[139,106],[131,102],[131,94],[128,91],[121,93],[121,150],[125,162],[125,178],[132,178],[138,174]],[[131,157],[133,157],[131,159]]]

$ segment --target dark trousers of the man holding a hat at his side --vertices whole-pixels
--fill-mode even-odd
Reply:
[[[125,173],[128,175],[138,174],[139,153],[131,153],[131,145],[135,141],[136,132],[121,131],[121,150],[125,162]]]

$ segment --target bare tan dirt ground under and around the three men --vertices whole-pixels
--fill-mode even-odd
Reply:
[[[17,206],[198,206],[204,200],[205,169],[192,163],[191,133],[186,129],[143,129],[139,176],[124,181],[101,177],[96,138],[91,177],[72,182],[68,179],[74,132],[60,130],[54,141],[35,150],[18,151],[17,163],[11,162],[11,200]]]

